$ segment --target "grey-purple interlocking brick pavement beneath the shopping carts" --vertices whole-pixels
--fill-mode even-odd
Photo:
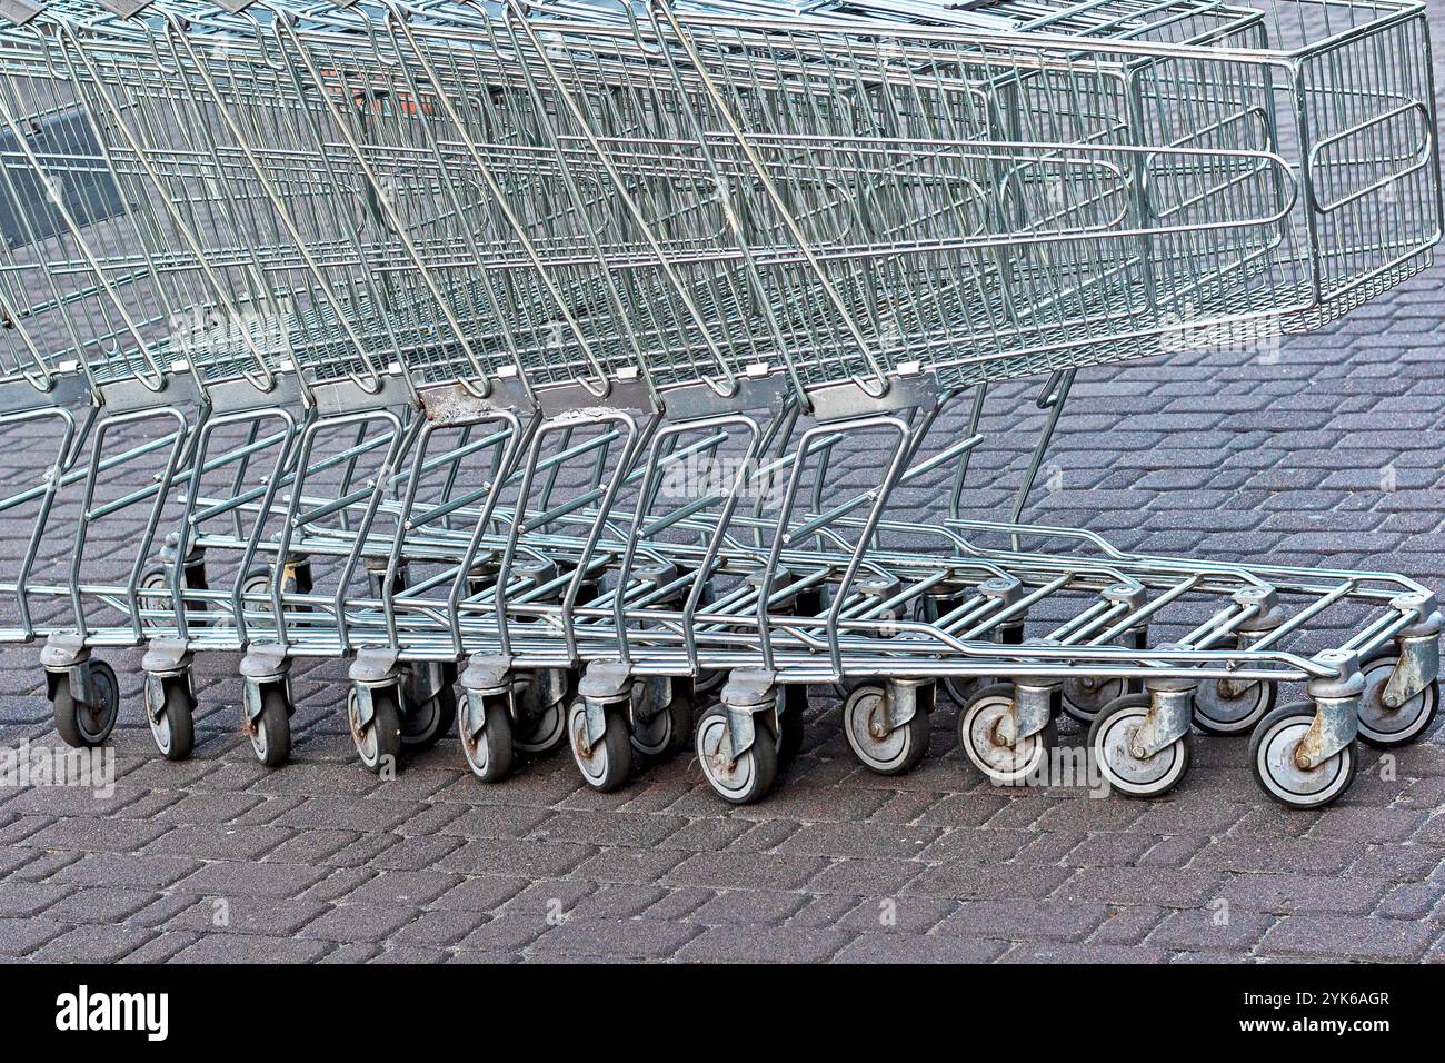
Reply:
[[[1442,278],[1276,350],[1087,372],[1032,513],[1126,548],[1445,589]],[[1036,424],[1001,440],[974,505],[1006,498]],[[43,461],[14,443],[7,486]],[[7,554],[20,535],[4,528]],[[114,794],[0,791],[3,957],[1445,959],[1439,726],[1393,771],[1366,755],[1338,806],[1287,813],[1241,742],[1199,736],[1165,800],[1000,791],[955,749],[952,710],[916,771],[879,778],[816,700],[772,798],[725,808],[686,758],[613,795],[565,752],[488,788],[455,740],[377,782],[354,762],[337,662],[298,674],[279,771],[237,735],[234,659],[208,662],[197,755],[169,764],[136,707],[137,655],[108,658],[126,699]],[[55,742],[35,648],[0,667],[0,743]]]

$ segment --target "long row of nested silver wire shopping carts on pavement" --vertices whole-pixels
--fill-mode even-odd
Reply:
[[[699,680],[727,675],[696,751],[746,801],[796,748],[809,684],[851,687],[854,751],[902,771],[942,681],[967,697],[964,749],[1000,781],[1036,771],[1062,707],[1092,720],[1126,793],[1178,782],[1194,716],[1221,732],[1266,719],[1251,751],[1266,788],[1334,800],[1355,730],[1407,740],[1433,714],[1423,589],[1126,557],[1088,537],[1103,557],[1025,551],[1022,537],[1081,534],[962,521],[957,492],[944,535],[886,508],[939,469],[961,484],[977,435],[923,448],[961,389],[977,427],[987,382],[1055,370],[1056,414],[1079,366],[1318,324],[1425,265],[1439,191],[1429,65],[1412,51],[1423,16],[1337,7],[1347,25],[1302,20],[1305,42],[1246,9],[1170,9],[1153,32],[1098,6],[1032,22],[1000,7],[987,17],[1012,29],[987,33],[662,7],[56,13],[56,33],[20,35],[33,65],[7,69],[65,72],[94,146],[55,155],[129,181],[152,221],[143,262],[129,246],[98,260],[88,215],[58,229],[91,275],[184,276],[225,327],[171,366],[202,401],[139,496],[159,513],[185,486],[169,602],[136,594],[156,518],[127,586],[74,574],[79,632],[51,635],[52,690],[69,677],[69,704],[85,703],[90,646],[149,639],[152,726],[184,754],[192,655],[246,649],[247,729],[275,762],[289,661],[355,652],[353,732],[383,765],[449,722],[467,659],[478,774],[506,772],[513,738],[555,745],[565,713],[584,778],[611,788],[634,748],[686,735]],[[26,179],[53,174],[22,155]],[[155,298],[140,283],[97,291],[156,320],[131,308]],[[240,315],[257,305],[285,324]],[[257,331],[285,343],[263,350]],[[103,347],[87,364],[113,369],[118,344]],[[251,432],[211,457],[197,444],[221,390]],[[262,417],[286,427],[247,483]],[[381,431],[316,457],[308,441],[353,424]],[[458,453],[488,471],[464,484],[429,445],[478,425]],[[827,456],[880,435],[880,483],[825,505]],[[659,470],[728,443],[741,471],[659,512]],[[377,473],[353,487],[360,453]],[[231,466],[231,492],[204,496],[204,473]],[[329,495],[303,493],[338,466]],[[590,474],[553,502],[569,466]],[[441,496],[419,503],[438,470]],[[198,515],[234,532],[208,538]],[[980,545],[991,535],[1009,547]],[[199,550],[240,554],[228,590],[191,576]],[[340,570],[332,593],[303,587],[315,557]],[[363,568],[376,580],[357,594]],[[90,631],[82,592],[130,622]],[[1318,644],[1341,609],[1348,638],[1285,648]],[[1046,633],[1025,642],[1029,618]],[[1150,645],[1160,629],[1172,641]],[[984,678],[1003,683],[968,688]],[[1270,712],[1280,681],[1308,683],[1314,704]]]

